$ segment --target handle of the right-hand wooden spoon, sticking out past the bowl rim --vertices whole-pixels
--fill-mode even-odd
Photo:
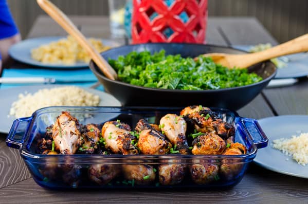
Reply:
[[[280,57],[282,55],[293,54],[308,51],[308,34],[299,36],[296,39],[277,45],[256,53],[249,54],[249,59],[244,67],[248,67],[258,62],[263,62],[271,58]],[[248,57],[248,56],[247,56]]]

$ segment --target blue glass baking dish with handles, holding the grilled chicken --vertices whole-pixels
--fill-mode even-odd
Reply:
[[[242,118],[236,112],[221,108],[211,108],[221,119],[235,127],[235,142],[247,148],[244,155],[42,155],[37,153],[38,138],[45,134],[45,129],[53,124],[62,111],[68,111],[80,123],[103,124],[110,120],[121,120],[135,127],[139,119],[148,119],[150,123],[159,123],[162,116],[168,113],[179,114],[183,108],[177,107],[74,107],[57,106],[37,110],[31,117],[16,119],[6,139],[8,146],[19,149],[33,179],[48,189],[70,188],[222,188],[232,187],[244,176],[247,165],[257,154],[257,150],[267,146],[267,137],[254,119]],[[178,184],[163,185],[157,174],[162,165],[184,168],[184,178]],[[217,171],[211,174],[200,169],[198,179],[206,182],[195,182],[190,168],[193,165],[214,166]],[[148,176],[140,180],[125,179],[125,166],[138,171],[143,166],[152,166],[154,179]],[[140,167],[141,166],[141,167]],[[227,171],[222,171],[227,166]],[[91,170],[100,169],[101,176],[117,172],[117,176],[107,183],[94,182],[89,179]],[[104,175],[106,174],[106,175]],[[127,176],[127,175],[126,175]]]

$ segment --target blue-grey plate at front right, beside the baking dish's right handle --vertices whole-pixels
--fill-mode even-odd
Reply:
[[[277,116],[258,120],[268,138],[268,146],[259,149],[255,161],[265,169],[302,178],[308,178],[308,164],[303,166],[282,151],[272,147],[273,140],[308,133],[308,116]]]

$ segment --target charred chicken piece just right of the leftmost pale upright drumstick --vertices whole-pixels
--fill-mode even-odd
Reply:
[[[95,124],[85,125],[85,133],[82,134],[82,145],[79,152],[82,154],[93,154],[99,148],[99,128]]]

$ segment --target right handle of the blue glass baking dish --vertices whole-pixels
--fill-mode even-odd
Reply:
[[[250,136],[252,142],[257,146],[258,149],[267,146],[268,139],[260,127],[259,123],[255,119],[251,118],[241,118],[241,121],[246,128],[248,135]]]

